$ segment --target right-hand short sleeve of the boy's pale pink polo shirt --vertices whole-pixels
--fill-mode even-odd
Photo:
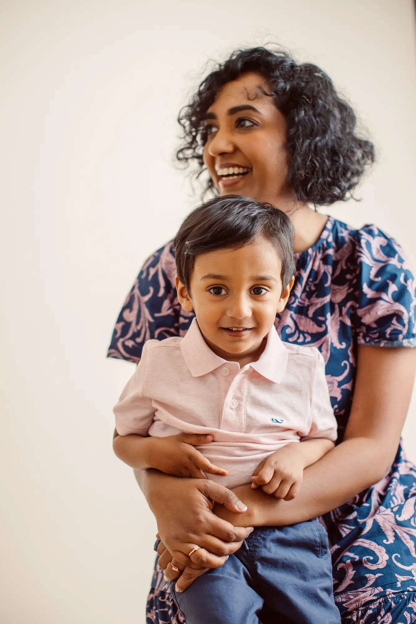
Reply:
[[[325,361],[317,349],[316,355],[317,360],[311,397],[311,429],[307,436],[303,436],[301,440],[325,437],[335,442],[337,439],[337,421],[331,406],[328,384],[326,383]]]

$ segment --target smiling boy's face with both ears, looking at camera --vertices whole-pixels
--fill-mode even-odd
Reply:
[[[177,278],[178,299],[185,310],[195,311],[214,353],[228,360],[250,361],[263,350],[263,339],[276,312],[288,301],[293,280],[282,293],[280,274],[276,249],[258,237],[239,249],[218,249],[198,256],[190,294]]]

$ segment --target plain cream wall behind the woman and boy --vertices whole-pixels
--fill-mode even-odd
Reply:
[[[326,70],[378,158],[362,201],[329,213],[377,223],[415,266],[414,25],[412,0],[0,2],[4,624],[145,621],[156,527],[111,444],[133,364],[105,352],[199,201],[175,119],[208,59],[272,41]]]

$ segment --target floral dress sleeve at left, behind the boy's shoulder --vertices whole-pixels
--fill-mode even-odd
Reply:
[[[145,261],[115,323],[108,358],[137,363],[147,340],[178,336],[175,273],[171,242]]]

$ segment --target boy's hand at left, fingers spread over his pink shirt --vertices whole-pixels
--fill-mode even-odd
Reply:
[[[147,463],[151,468],[174,477],[206,479],[205,472],[225,476],[226,470],[206,459],[195,446],[209,444],[212,435],[180,433],[177,436],[149,437]]]

